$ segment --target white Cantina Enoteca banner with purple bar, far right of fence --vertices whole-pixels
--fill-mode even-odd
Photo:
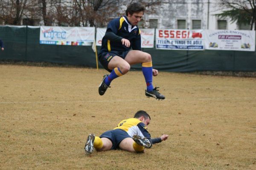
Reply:
[[[205,49],[255,51],[255,31],[205,30]]]

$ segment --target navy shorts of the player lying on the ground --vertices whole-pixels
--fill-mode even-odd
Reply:
[[[99,137],[108,138],[112,141],[113,146],[111,147],[111,150],[119,149],[119,144],[122,142],[122,140],[125,138],[131,138],[131,136],[129,136],[128,133],[122,129],[108,130],[102,133],[102,135]]]

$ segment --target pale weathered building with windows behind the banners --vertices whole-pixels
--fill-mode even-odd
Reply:
[[[170,29],[243,29],[229,18],[220,19],[227,8],[221,8],[218,0],[162,0],[156,14],[145,14],[140,27]]]

